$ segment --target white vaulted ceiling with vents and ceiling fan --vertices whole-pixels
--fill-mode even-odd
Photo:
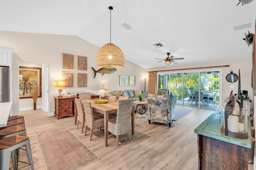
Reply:
[[[99,47],[112,43],[125,59],[144,68],[166,66],[155,58],[170,52],[181,64],[247,58],[252,46],[242,38],[254,33],[256,0],[1,0],[0,30],[77,35]],[[121,26],[128,23],[132,29]],[[234,26],[252,27],[234,31]],[[162,43],[156,48],[153,44]],[[96,56],[95,56],[96,57]],[[169,65],[169,67],[172,64]]]

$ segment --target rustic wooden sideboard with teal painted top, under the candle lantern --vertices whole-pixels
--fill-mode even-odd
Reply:
[[[252,147],[250,120],[248,139],[222,135],[220,127],[220,113],[216,112],[195,129],[198,134],[198,169],[247,170],[248,148]]]

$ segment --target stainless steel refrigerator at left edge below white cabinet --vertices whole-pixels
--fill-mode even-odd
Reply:
[[[0,103],[10,102],[9,67],[0,66]]]

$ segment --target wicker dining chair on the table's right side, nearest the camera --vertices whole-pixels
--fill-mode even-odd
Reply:
[[[108,120],[108,131],[116,135],[116,146],[118,146],[118,136],[129,133],[129,140],[131,140],[131,123],[130,117],[132,113],[133,100],[119,100],[117,116]]]

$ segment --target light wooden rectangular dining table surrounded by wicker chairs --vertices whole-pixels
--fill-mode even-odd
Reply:
[[[94,103],[94,99],[92,100],[84,100],[86,102],[90,102],[93,111],[97,111],[104,115],[104,138],[105,138],[105,147],[108,146],[108,115],[117,113],[118,102],[110,102],[105,104],[96,104]],[[131,121],[132,121],[132,135],[134,135],[134,107],[132,107],[131,113]],[[77,109],[75,102],[75,118],[77,117]],[[75,119],[76,120],[76,119]]]

